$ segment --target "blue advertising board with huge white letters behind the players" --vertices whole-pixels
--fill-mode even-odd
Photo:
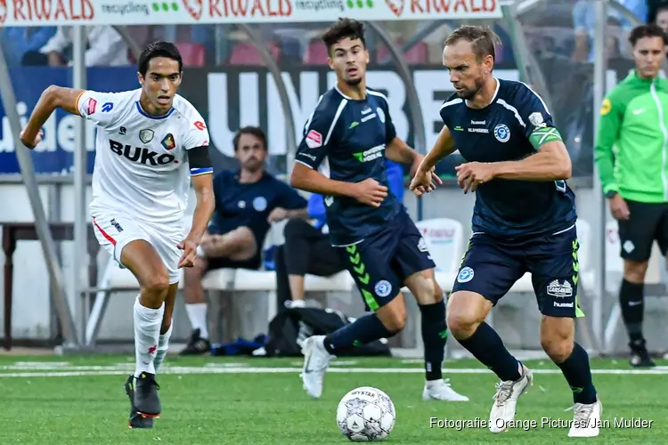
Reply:
[[[608,72],[609,85],[623,78],[630,66],[624,65]],[[452,94],[452,85],[443,67],[413,67],[413,82],[420,100],[420,113],[425,123],[427,148],[436,142],[443,127],[438,109]],[[494,70],[497,77],[515,80],[517,69],[507,67]],[[17,110],[25,123],[37,103],[40,94],[49,85],[71,85],[71,69],[22,68],[12,69],[12,84],[18,100]],[[295,122],[295,138],[301,139],[303,125],[313,112],[316,102],[335,83],[334,74],[326,67],[300,67],[284,69],[282,78],[286,84],[292,117]],[[392,69],[371,69],[368,85],[387,94],[390,113],[397,135],[414,143],[414,128],[407,101],[407,91],[399,75]],[[134,67],[91,68],[87,70],[88,87],[102,92],[118,92],[138,88]],[[586,86],[586,85],[585,85]],[[584,88],[589,90],[591,88]],[[187,69],[179,93],[200,110],[208,122],[211,134],[211,154],[216,166],[232,166],[232,138],[244,125],[258,125],[268,135],[272,166],[285,172],[286,146],[285,113],[281,108],[278,90],[271,74],[262,68],[211,67]],[[575,176],[591,176],[593,144],[593,109],[590,94],[562,94],[550,92],[557,102],[550,112],[555,117],[566,147],[574,164]],[[72,172],[74,150],[74,122],[77,118],[58,110],[45,125],[45,141],[32,152],[37,174],[69,174]],[[0,103],[0,174],[20,172],[12,143],[9,121]],[[86,122],[86,149],[89,151],[88,171],[94,163],[94,125]],[[439,170],[450,174],[461,158],[446,158]]]

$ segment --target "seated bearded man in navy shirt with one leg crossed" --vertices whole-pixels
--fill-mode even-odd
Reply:
[[[240,170],[214,178],[216,211],[200,243],[195,267],[183,271],[185,309],[192,325],[190,342],[181,352],[209,352],[207,299],[201,280],[214,269],[259,269],[262,246],[271,223],[305,218],[306,200],[265,171],[267,141],[262,129],[247,126],[234,136]]]

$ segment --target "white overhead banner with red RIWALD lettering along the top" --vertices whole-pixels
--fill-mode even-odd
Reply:
[[[155,25],[501,18],[501,0],[0,0],[0,25]]]

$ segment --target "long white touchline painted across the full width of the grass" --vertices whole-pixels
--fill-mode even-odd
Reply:
[[[75,367],[72,367],[75,368]],[[81,367],[91,368],[91,367]],[[102,367],[100,367],[102,368]],[[301,368],[195,368],[171,367],[160,369],[161,375],[166,374],[298,374]],[[422,374],[420,368],[330,368],[333,374]],[[482,368],[452,368],[444,369],[444,374],[490,374],[492,371]],[[561,374],[559,369],[532,369],[534,374]],[[608,375],[666,375],[668,369],[592,369],[592,374]],[[123,376],[128,374],[126,369],[111,367],[95,370],[62,370],[58,371],[26,371],[0,373],[0,377],[74,377],[74,376]]]

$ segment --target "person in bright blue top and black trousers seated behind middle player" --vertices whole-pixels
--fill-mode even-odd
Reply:
[[[403,168],[386,160],[389,190],[403,201]],[[276,296],[279,308],[304,307],[305,275],[330,277],[346,270],[337,249],[331,247],[329,228],[325,223],[325,205],[322,195],[316,193],[308,200],[311,220],[290,220],[283,230],[285,244],[276,248]],[[289,303],[288,303],[289,302]]]

